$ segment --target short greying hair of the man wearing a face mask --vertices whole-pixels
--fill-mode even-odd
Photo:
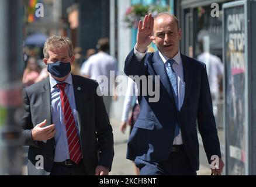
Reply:
[[[73,44],[68,37],[56,36],[56,35],[49,37],[49,39],[46,40],[46,43],[44,43],[44,49],[43,49],[44,58],[47,58],[47,59],[49,58],[49,54],[48,54],[49,50],[59,49],[63,46],[68,48],[68,54],[70,57],[72,57],[74,55]]]

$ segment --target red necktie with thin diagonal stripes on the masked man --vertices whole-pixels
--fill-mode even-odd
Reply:
[[[60,89],[61,108],[64,114],[64,124],[67,131],[70,159],[76,164],[79,164],[82,158],[82,151],[70,102],[68,102],[68,96],[64,91],[66,85],[66,83],[57,84],[57,87]]]

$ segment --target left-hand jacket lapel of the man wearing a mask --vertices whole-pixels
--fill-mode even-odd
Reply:
[[[50,99],[50,81],[49,78],[44,80],[43,88],[41,91],[41,114],[43,119],[47,120],[46,126],[49,126],[52,124],[52,119],[51,119],[51,99]]]

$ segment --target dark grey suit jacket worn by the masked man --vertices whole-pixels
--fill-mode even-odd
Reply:
[[[95,174],[97,165],[112,167],[114,156],[113,133],[102,97],[96,94],[98,83],[78,75],[72,75],[82,157],[88,175]],[[78,87],[80,87],[78,89]],[[23,90],[23,137],[29,146],[28,174],[49,175],[53,167],[56,141],[33,141],[32,129],[47,120],[52,124],[49,78]],[[43,160],[41,159],[43,158]],[[43,161],[43,164],[39,164]]]

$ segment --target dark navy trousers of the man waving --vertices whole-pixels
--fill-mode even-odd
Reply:
[[[183,149],[172,152],[164,162],[147,162],[138,158],[134,162],[140,175],[196,175]]]

